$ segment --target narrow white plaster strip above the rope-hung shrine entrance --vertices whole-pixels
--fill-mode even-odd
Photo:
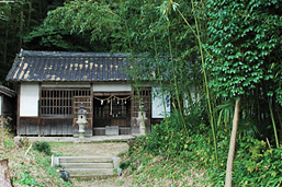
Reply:
[[[132,92],[131,84],[94,84],[93,92]]]

